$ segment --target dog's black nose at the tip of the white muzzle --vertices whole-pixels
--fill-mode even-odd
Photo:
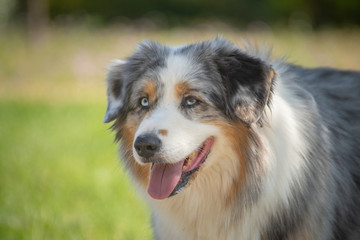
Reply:
[[[139,156],[150,158],[159,151],[161,140],[155,134],[140,135],[136,138],[134,147]]]

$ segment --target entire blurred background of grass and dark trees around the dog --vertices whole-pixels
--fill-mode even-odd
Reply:
[[[273,48],[360,70],[357,0],[0,0],[0,239],[152,239],[121,164],[105,67],[143,39]]]

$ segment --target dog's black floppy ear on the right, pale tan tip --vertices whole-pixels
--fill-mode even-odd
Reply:
[[[275,72],[262,60],[229,44],[219,49],[215,60],[227,94],[227,112],[250,125],[262,116]]]

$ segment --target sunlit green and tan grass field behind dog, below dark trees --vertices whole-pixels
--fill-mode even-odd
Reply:
[[[104,68],[145,38],[175,45],[218,32],[305,66],[360,70],[359,30],[57,28],[33,43],[1,33],[0,239],[152,239],[149,209],[102,124]]]

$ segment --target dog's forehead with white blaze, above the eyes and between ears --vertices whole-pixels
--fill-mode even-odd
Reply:
[[[159,47],[159,46],[157,46]],[[156,105],[181,101],[185,95],[196,92],[204,100],[211,101],[212,96],[221,91],[221,79],[205,50],[196,50],[193,45],[167,47],[167,51],[154,55],[158,65],[143,65],[144,73],[132,84],[132,102],[138,101],[139,95],[155,92]],[[199,52],[201,51],[201,52]],[[137,65],[139,66],[139,65]],[[153,84],[148,84],[153,82]],[[150,99],[151,100],[151,99]]]

